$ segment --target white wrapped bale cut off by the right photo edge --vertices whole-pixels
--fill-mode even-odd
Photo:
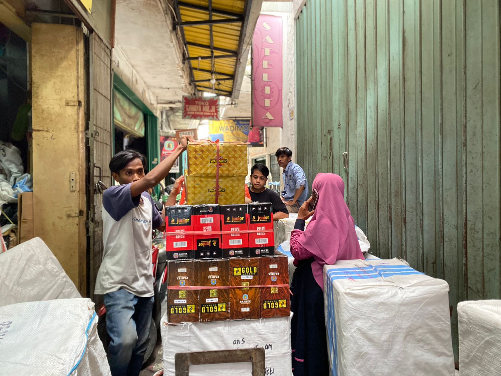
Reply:
[[[501,375],[501,300],[457,304],[460,376]]]

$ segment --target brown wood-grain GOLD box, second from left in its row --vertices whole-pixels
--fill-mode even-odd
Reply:
[[[195,264],[197,286],[229,286],[229,260],[199,260]],[[229,290],[200,289],[198,306],[202,322],[229,320]]]

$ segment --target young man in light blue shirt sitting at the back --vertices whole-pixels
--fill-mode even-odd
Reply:
[[[281,147],[275,153],[277,162],[284,169],[284,191],[282,200],[289,213],[298,213],[299,208],[308,200],[308,180],[305,171],[292,159],[292,150]]]

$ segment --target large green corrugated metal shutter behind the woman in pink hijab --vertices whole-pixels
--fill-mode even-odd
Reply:
[[[374,253],[447,280],[457,359],[457,302],[501,298],[499,2],[308,0],[296,41],[298,163],[345,179]]]

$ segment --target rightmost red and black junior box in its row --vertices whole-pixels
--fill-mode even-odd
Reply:
[[[273,256],[275,236],[273,234],[273,213],[271,203],[247,204],[249,213],[249,256]]]

